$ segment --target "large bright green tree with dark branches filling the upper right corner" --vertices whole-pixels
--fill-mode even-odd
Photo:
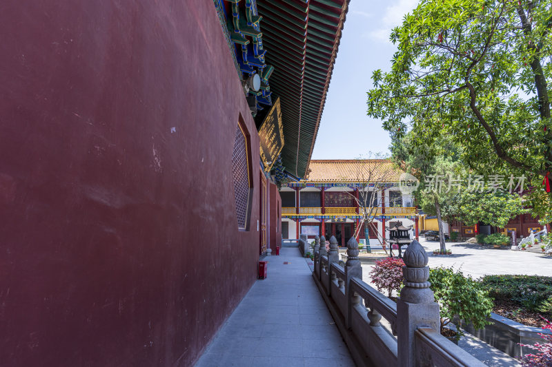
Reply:
[[[422,0],[391,34],[391,71],[373,72],[368,115],[415,145],[449,136],[472,169],[526,174],[538,196],[552,171],[551,28],[549,0]]]

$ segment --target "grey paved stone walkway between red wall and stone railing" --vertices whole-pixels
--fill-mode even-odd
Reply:
[[[268,277],[253,284],[196,367],[355,366],[299,249],[265,260]]]

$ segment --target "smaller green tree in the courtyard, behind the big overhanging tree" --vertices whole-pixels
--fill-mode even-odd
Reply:
[[[454,220],[468,225],[481,221],[505,227],[511,218],[528,212],[517,193],[509,193],[502,187],[489,190],[489,182],[484,180],[480,181],[483,186],[477,191],[470,191],[473,187],[468,187],[469,181],[475,181],[475,175],[466,169],[460,158],[461,147],[451,138],[442,137],[433,146],[418,147],[411,136],[413,132],[393,141],[392,158],[403,169],[417,173],[422,181],[415,192],[417,204],[426,214],[437,216],[440,232],[443,232],[443,222]],[[446,250],[444,235],[440,242],[441,249]]]

